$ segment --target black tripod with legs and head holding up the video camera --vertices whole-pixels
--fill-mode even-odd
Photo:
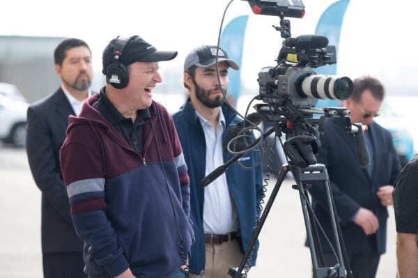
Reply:
[[[293,178],[295,178],[296,181],[296,185],[294,185],[293,188],[298,190],[300,194],[300,201],[302,204],[304,224],[307,231],[307,242],[310,248],[314,277],[352,277],[350,265],[346,255],[346,248],[344,246],[341,229],[337,220],[338,216],[336,215],[334,200],[330,190],[330,179],[327,173],[327,169],[323,164],[316,164],[316,158],[314,156],[314,153],[316,153],[319,148],[318,137],[320,133],[316,128],[314,128],[314,126],[320,125],[320,120],[314,118],[301,118],[301,110],[296,109],[296,107],[290,103],[282,107],[284,108],[283,111],[277,110],[274,113],[271,113],[271,111],[269,113],[265,108],[265,105],[258,106],[258,113],[256,116],[253,115],[252,118],[258,117],[261,118],[261,121],[263,122],[274,123],[276,135],[280,135],[282,131],[288,135],[289,139],[284,143],[284,153],[287,157],[289,157],[290,162],[289,164],[284,164],[279,171],[277,182],[274,185],[270,199],[268,200],[268,203],[266,203],[261,217],[258,219],[256,228],[254,229],[253,235],[251,236],[249,246],[247,247],[244,257],[240,263],[240,267],[238,269],[230,268],[229,275],[234,278],[247,277],[246,272],[249,268],[246,268],[246,263],[248,257],[251,255],[252,248],[256,243],[261,229],[263,228],[265,219],[268,217],[268,213],[270,213],[270,208],[277,196],[277,193],[279,192],[281,184],[283,183],[288,171],[291,171],[291,173],[293,173]],[[313,112],[318,113],[316,110],[313,111],[309,109],[302,111],[302,113],[306,113],[308,115]],[[347,118],[348,116],[346,110],[343,108],[329,109],[325,111],[324,114],[326,117],[343,116]],[[283,117],[283,115],[285,116]],[[294,124],[291,129],[286,128],[286,122],[289,119]],[[323,119],[325,120],[325,117]],[[348,121],[346,121],[346,128],[348,132],[352,132],[351,122],[349,119],[350,118],[347,118]],[[348,126],[350,126],[350,128],[348,128]],[[274,130],[274,128],[272,128],[272,130]],[[271,134],[272,130],[265,132],[263,137]],[[321,130],[321,132],[322,131],[323,130]],[[355,131],[362,133],[361,129]],[[327,208],[330,212],[332,237],[335,242],[334,253],[336,254],[336,261],[338,262],[336,265],[325,265],[322,247],[320,246],[317,225],[316,222],[313,221],[315,215],[313,211],[309,210],[311,206],[309,202],[308,190],[311,188],[311,186],[321,185],[325,189],[324,192],[326,194]],[[244,268],[246,268],[246,272],[242,274],[242,270],[244,270]]]

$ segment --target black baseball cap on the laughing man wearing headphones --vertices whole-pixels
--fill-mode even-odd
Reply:
[[[121,48],[121,44],[126,43],[125,47],[119,56],[119,63],[130,65],[134,62],[160,62],[169,61],[177,56],[176,51],[159,51],[150,43],[147,43],[139,36],[132,36],[130,38],[114,38],[110,41],[103,52],[103,70],[106,74],[107,67],[114,61],[117,47]]]

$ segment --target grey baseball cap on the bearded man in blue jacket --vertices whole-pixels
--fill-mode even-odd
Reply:
[[[196,65],[198,67],[207,68],[210,65],[216,63],[216,52],[217,47],[215,45],[201,45],[193,49],[189,54],[187,54],[185,59],[184,70],[187,72],[192,65]],[[240,67],[238,63],[228,59],[228,54],[225,52],[224,49],[219,47],[218,52],[218,63],[222,61],[228,62],[229,66],[234,70],[239,70]]]

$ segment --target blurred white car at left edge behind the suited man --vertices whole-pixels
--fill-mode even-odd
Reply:
[[[23,147],[26,139],[26,110],[29,103],[0,94],[0,140]]]

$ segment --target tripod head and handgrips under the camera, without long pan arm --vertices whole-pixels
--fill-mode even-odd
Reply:
[[[289,159],[289,164],[302,168],[316,164],[315,155],[320,149],[320,135],[325,132],[325,118],[343,118],[346,132],[354,134],[360,167],[369,166],[369,157],[364,141],[365,128],[359,123],[351,123],[350,111],[345,107],[300,109],[295,107],[289,98],[282,98],[280,105],[258,103],[254,108],[256,112],[247,117],[251,119],[251,122],[273,123],[277,136],[286,134],[283,148]],[[323,116],[314,118],[313,114],[322,114]],[[243,128],[246,123],[245,121],[242,123]],[[238,128],[238,130],[240,129]],[[246,148],[242,147],[245,145],[245,140],[240,138],[241,133],[240,131],[229,132],[226,141],[229,141],[229,144],[233,142],[233,146],[240,146],[240,150],[245,150]],[[235,144],[235,140],[238,141],[238,144]]]

